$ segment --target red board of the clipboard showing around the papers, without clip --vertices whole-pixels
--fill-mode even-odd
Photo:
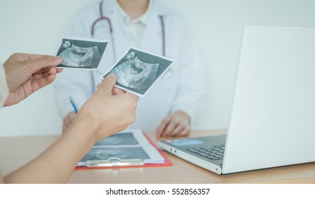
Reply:
[[[145,136],[146,139],[148,139],[148,142],[155,148],[157,151],[160,153],[160,155],[164,158],[164,163],[145,163],[144,165],[124,165],[124,166],[113,166],[113,167],[85,167],[85,166],[77,166],[75,170],[87,170],[87,169],[95,169],[95,168],[140,168],[140,167],[158,167],[158,166],[171,166],[173,163],[170,161],[167,156],[165,156],[165,153],[158,148],[154,142],[148,137],[145,132],[143,132],[143,135]]]

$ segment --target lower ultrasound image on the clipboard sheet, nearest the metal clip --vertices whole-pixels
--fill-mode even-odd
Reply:
[[[150,158],[141,146],[138,147],[106,147],[92,148],[81,161],[102,161],[109,158],[148,159]]]

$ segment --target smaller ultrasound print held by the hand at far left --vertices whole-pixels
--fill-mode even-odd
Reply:
[[[64,38],[57,53],[64,59],[59,67],[97,69],[107,43],[102,40]]]

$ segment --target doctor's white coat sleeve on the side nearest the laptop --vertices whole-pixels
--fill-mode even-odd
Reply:
[[[180,48],[182,49],[180,85],[172,112],[177,110],[186,112],[194,126],[198,120],[198,113],[206,107],[205,66],[188,25],[184,30]]]

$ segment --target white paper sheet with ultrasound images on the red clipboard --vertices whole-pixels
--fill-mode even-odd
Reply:
[[[77,166],[86,161],[106,161],[110,158],[141,159],[144,163],[164,163],[164,158],[150,144],[140,129],[126,130],[95,142],[93,148]]]

